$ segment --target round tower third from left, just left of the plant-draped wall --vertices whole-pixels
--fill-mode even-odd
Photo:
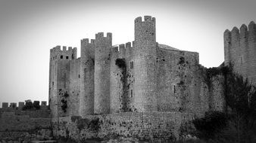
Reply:
[[[108,114],[110,112],[110,51],[112,34],[103,32],[95,35],[95,114]]]

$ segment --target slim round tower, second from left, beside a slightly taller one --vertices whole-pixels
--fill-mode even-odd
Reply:
[[[80,64],[80,116],[94,112],[94,60],[95,40],[81,40]]]

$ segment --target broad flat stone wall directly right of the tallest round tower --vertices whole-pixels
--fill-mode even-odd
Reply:
[[[207,111],[208,89],[200,74],[198,53],[157,51],[158,111]]]

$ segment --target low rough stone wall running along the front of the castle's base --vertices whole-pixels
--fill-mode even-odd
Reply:
[[[116,114],[59,117],[52,119],[57,138],[83,141],[117,136],[151,142],[171,142],[180,138],[180,124],[203,114],[180,112],[123,112]]]

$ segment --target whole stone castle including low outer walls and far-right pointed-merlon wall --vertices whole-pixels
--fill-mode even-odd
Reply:
[[[52,48],[49,105],[23,111],[24,102],[2,103],[0,141],[123,136],[172,142],[186,135],[189,120],[226,110],[225,76],[214,70],[231,62],[256,84],[254,22],[224,32],[225,61],[217,68],[200,65],[198,53],[158,44],[155,31],[154,17],[137,17],[133,42],[112,46],[111,33],[99,32],[81,40],[80,58],[76,47]]]

